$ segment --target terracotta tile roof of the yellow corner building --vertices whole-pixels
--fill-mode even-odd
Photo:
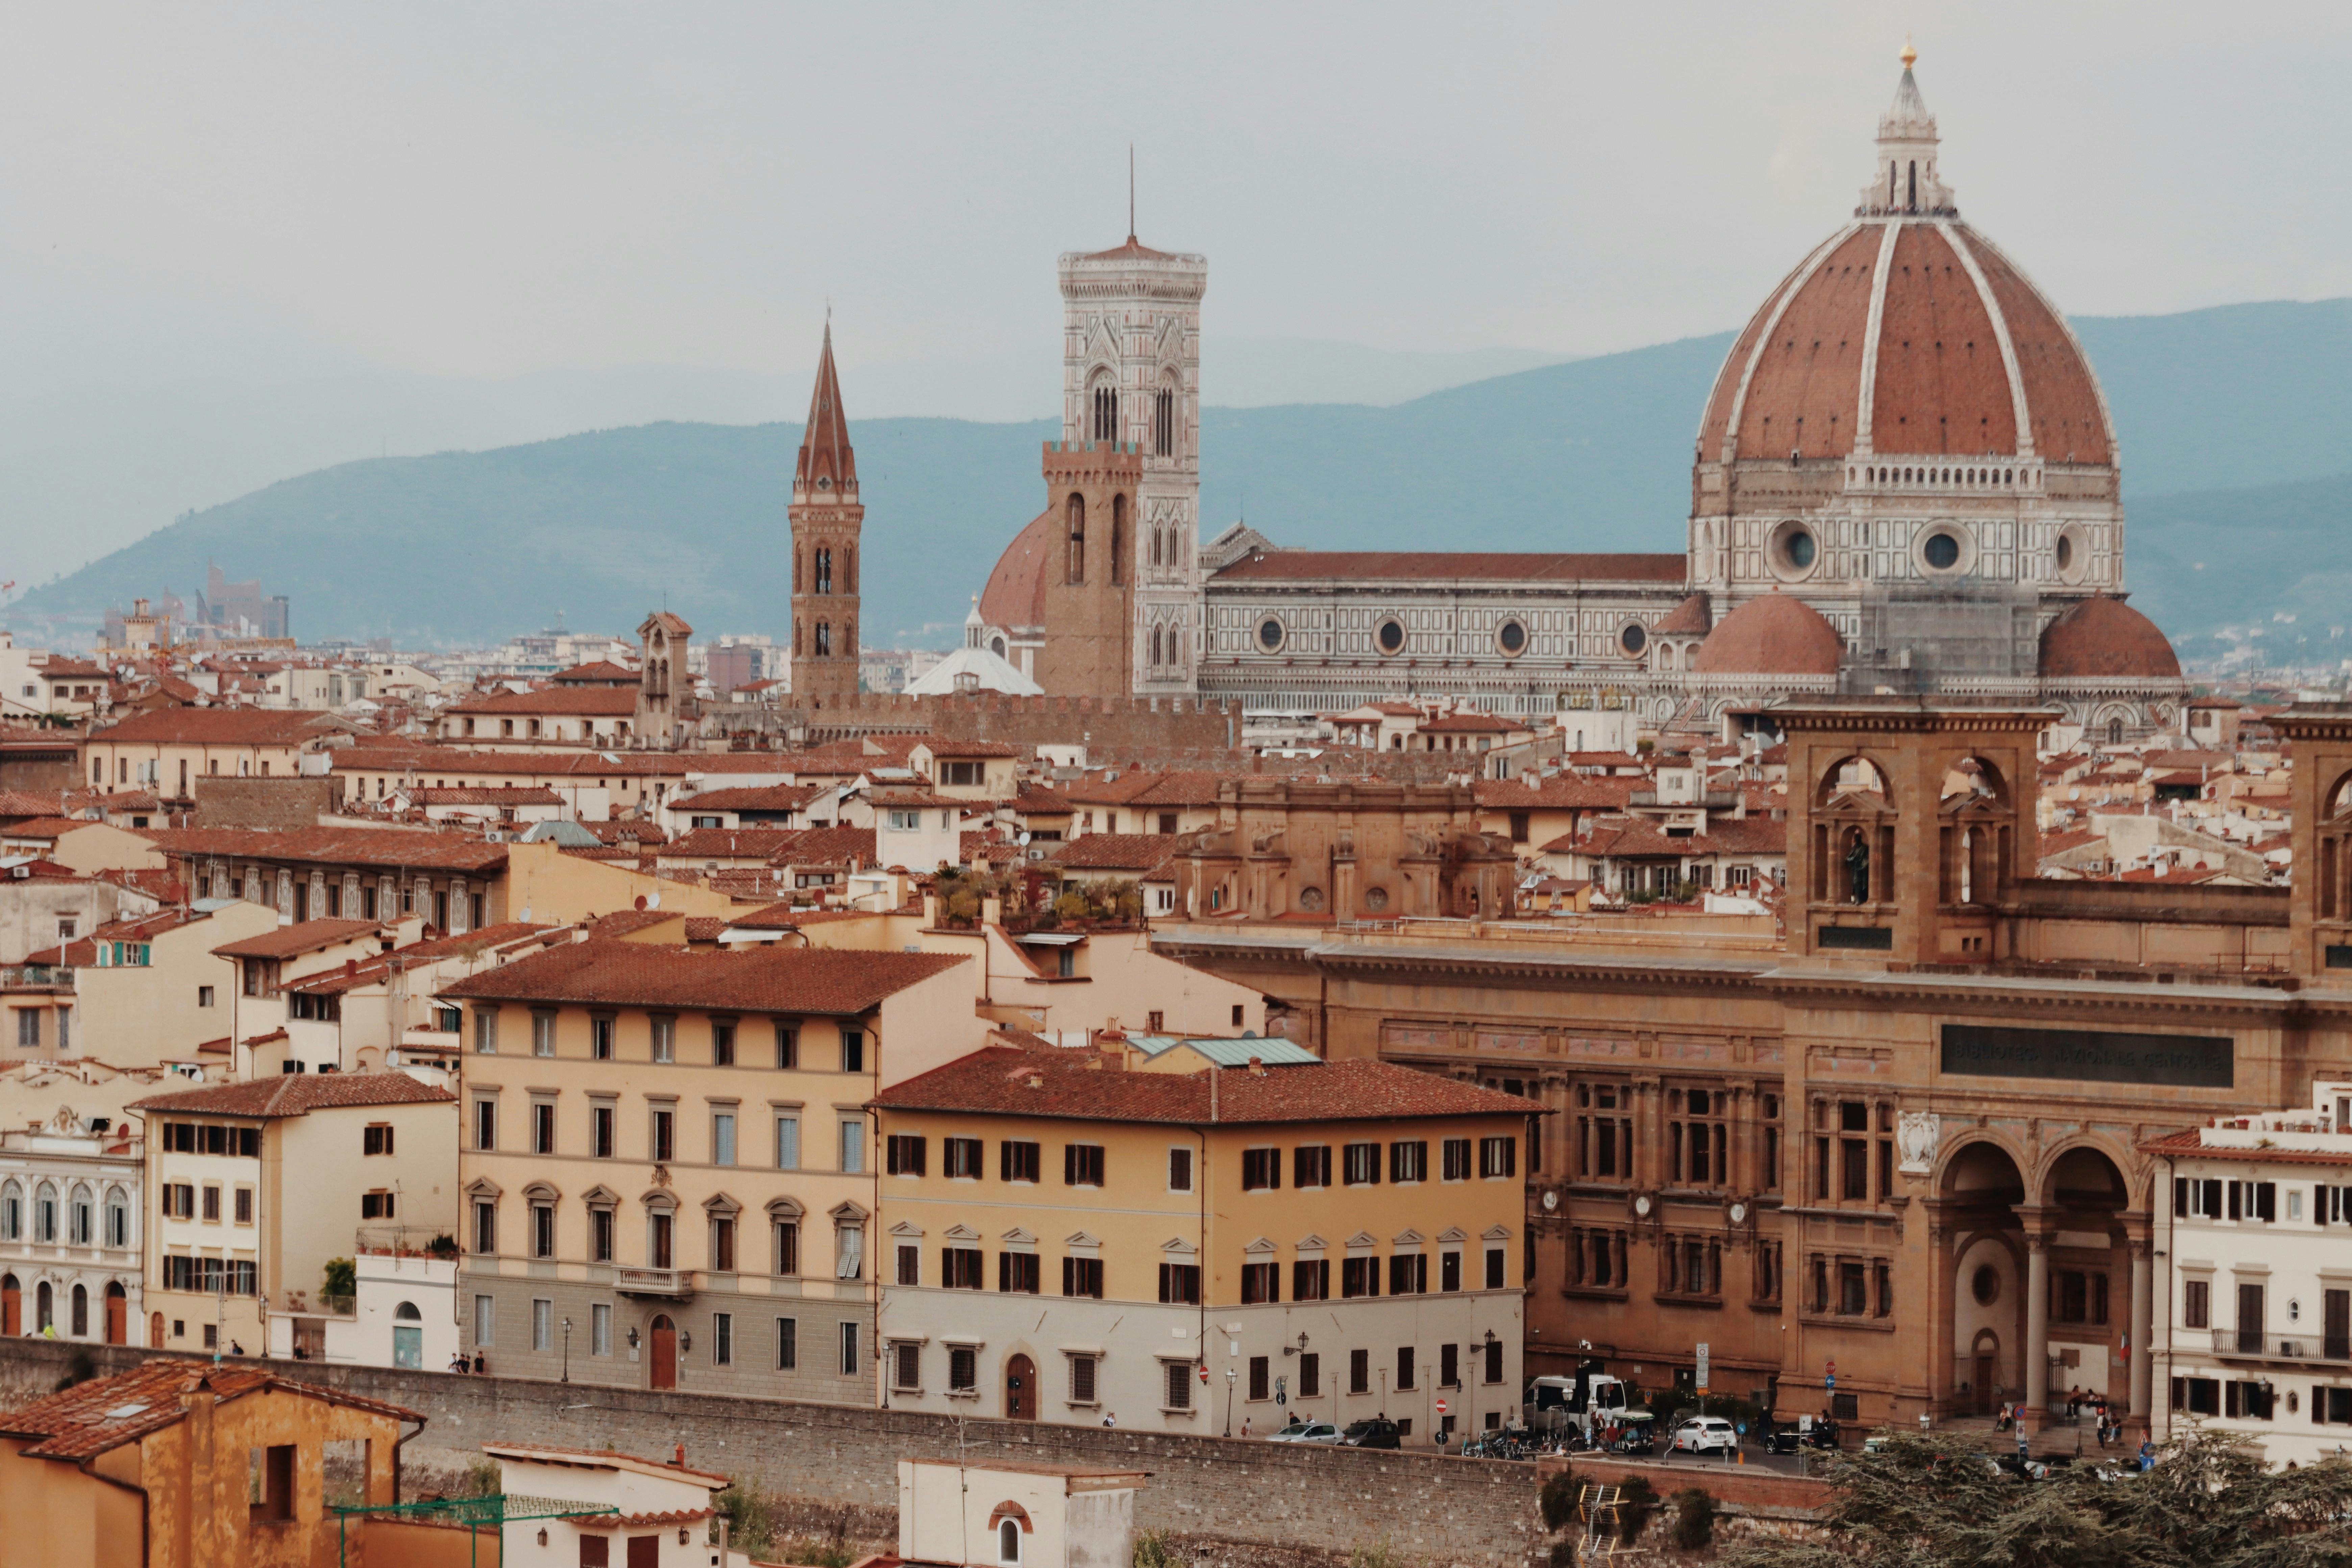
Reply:
[[[1080,1121],[1209,1121],[1209,1072],[1115,1072],[1058,1051],[988,1046],[875,1095],[887,1110]],[[1216,1074],[1221,1124],[1531,1117],[1543,1105],[1395,1063],[1345,1060]]]

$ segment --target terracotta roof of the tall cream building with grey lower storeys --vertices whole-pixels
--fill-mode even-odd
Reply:
[[[760,945],[680,952],[588,938],[459,980],[442,997],[468,1001],[576,1001],[743,1013],[856,1018],[887,997],[957,964],[938,952],[849,952]]]

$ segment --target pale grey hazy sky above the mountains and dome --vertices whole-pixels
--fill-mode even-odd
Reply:
[[[2352,292],[2345,5],[52,5],[0,59],[0,383],[800,374],[1051,336],[1054,254],[1214,336],[1738,324],[1910,31],[1962,212],[2072,313]]]

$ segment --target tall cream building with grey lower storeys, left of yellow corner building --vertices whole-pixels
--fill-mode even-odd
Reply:
[[[981,1041],[967,964],[590,938],[466,1011],[466,1349],[489,1371],[873,1401],[875,1088]]]

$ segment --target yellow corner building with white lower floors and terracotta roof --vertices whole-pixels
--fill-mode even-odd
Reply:
[[[1536,1103],[1120,1060],[990,1046],[875,1095],[891,1408],[1421,1443],[1517,1410]]]

